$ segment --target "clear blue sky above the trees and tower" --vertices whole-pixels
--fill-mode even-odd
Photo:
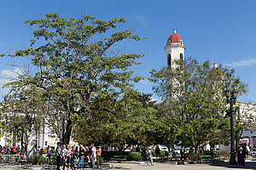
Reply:
[[[164,46],[172,29],[177,28],[187,47],[185,56],[235,68],[242,82],[249,84],[247,96],[240,100],[256,100],[256,1],[10,0],[2,1],[0,8],[1,54],[28,47],[32,29],[24,21],[42,18],[47,13],[63,17],[92,14],[99,20],[123,17],[127,20],[124,27],[136,28],[137,34],[148,37],[129,43],[131,52],[146,54],[141,59],[143,64],[135,69],[137,74],[148,77],[148,71],[166,65]],[[13,76],[7,70],[18,71],[10,65],[26,62],[26,59],[0,59],[0,85]],[[152,93],[148,81],[139,82],[137,88]],[[6,92],[0,90],[0,98]]]

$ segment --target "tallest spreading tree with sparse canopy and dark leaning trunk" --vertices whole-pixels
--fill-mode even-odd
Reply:
[[[101,111],[118,115],[115,103],[142,78],[133,76],[130,68],[138,65],[137,59],[143,55],[125,54],[117,48],[125,39],[141,39],[132,31],[116,31],[117,25],[124,22],[122,18],[103,21],[83,15],[80,19],[64,19],[46,14],[43,19],[25,22],[35,29],[32,47],[9,54],[28,57],[36,67],[33,74],[21,76],[9,87],[15,91],[35,86],[45,99],[67,114],[64,144],[69,143],[78,120]]]

